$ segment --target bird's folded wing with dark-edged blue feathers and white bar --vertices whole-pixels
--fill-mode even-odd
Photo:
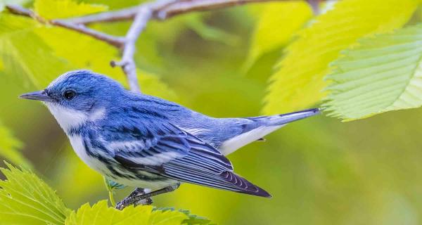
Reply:
[[[152,139],[137,148],[115,149],[115,160],[128,168],[147,169],[191,184],[269,197],[269,193],[234,174],[231,162],[217,149],[165,122],[155,122]]]

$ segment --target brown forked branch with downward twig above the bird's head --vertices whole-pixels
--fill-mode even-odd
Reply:
[[[105,41],[108,44],[122,49],[122,60],[112,61],[112,66],[120,66],[127,75],[129,87],[132,91],[140,92],[138,79],[136,77],[136,65],[134,63],[135,44],[141,32],[145,29],[150,20],[165,20],[174,15],[190,13],[193,11],[208,11],[216,8],[226,8],[230,6],[240,6],[243,4],[264,2],[264,1],[283,1],[283,0],[156,0],[140,6],[124,8],[120,11],[98,13],[79,18],[70,18],[65,20],[45,21],[39,18],[32,11],[20,6],[6,6],[11,13],[25,15],[38,20],[41,23],[50,23],[64,27],[82,34],[87,34],[98,40]],[[307,0],[311,4],[314,12],[318,10],[318,0]],[[118,20],[134,20],[125,37],[115,37],[110,34],[98,32],[86,27],[89,23],[110,22]]]

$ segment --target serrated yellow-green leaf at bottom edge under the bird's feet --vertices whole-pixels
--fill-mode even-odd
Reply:
[[[124,210],[116,210],[108,207],[106,200],[101,200],[92,207],[89,204],[82,205],[77,212],[72,212],[65,221],[66,225],[143,225],[160,224],[176,225],[181,224],[186,215],[181,212],[153,211],[150,205],[141,205],[138,207],[126,207]]]

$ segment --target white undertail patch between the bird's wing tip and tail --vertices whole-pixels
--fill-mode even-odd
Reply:
[[[251,143],[252,141],[257,141],[258,139],[262,138],[263,136],[279,129],[281,126],[271,126],[271,127],[258,127],[256,129],[252,129],[251,131],[245,132],[241,135],[235,136],[227,141],[224,141],[222,146],[219,146],[218,150],[223,155],[229,155],[233,153],[235,150]]]

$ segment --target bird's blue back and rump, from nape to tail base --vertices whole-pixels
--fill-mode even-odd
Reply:
[[[162,98],[127,91],[121,101],[108,110],[108,122],[148,126],[162,120],[177,125],[215,148],[224,141],[262,125],[260,120],[246,118],[214,118],[197,113],[182,105]]]

